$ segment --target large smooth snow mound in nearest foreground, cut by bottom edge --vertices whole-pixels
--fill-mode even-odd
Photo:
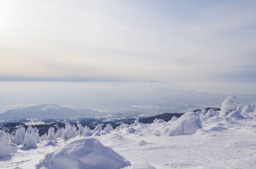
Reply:
[[[36,169],[117,169],[131,163],[95,138],[76,138],[59,151],[47,154]]]

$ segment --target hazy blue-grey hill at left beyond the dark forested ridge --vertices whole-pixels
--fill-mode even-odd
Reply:
[[[42,104],[26,108],[8,110],[0,114],[1,121],[13,121],[25,118],[36,119],[69,119],[72,117],[88,117],[99,115],[100,112],[90,109],[72,109],[59,105]]]

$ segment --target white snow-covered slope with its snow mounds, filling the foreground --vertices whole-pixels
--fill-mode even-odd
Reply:
[[[89,131],[80,125],[76,131],[67,124],[67,129],[55,133],[56,137],[52,131],[51,137],[41,137],[36,149],[26,150],[21,143],[17,152],[0,158],[0,168],[67,168],[67,164],[74,164],[72,168],[98,169],[256,167],[255,107],[236,105],[236,97],[223,102],[221,114],[202,110],[169,122],[142,124],[136,120],[116,129],[100,127]],[[34,131],[26,135],[36,136]],[[102,165],[102,160],[108,164]]]

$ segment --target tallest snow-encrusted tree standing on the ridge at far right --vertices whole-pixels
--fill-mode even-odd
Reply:
[[[221,105],[220,117],[225,119],[230,112],[236,111],[236,96],[228,96]]]

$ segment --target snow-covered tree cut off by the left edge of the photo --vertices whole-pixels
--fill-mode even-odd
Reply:
[[[7,133],[0,130],[0,158],[17,151],[17,146],[8,143]]]

